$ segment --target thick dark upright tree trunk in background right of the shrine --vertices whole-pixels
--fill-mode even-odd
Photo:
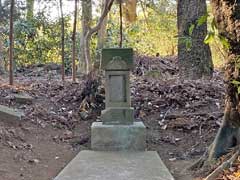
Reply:
[[[206,0],[178,0],[178,59],[180,76],[183,79],[211,77],[213,63],[210,48],[204,43],[207,22],[197,25],[200,17],[207,14]],[[189,32],[194,25],[192,32]],[[190,47],[186,47],[186,38]]]

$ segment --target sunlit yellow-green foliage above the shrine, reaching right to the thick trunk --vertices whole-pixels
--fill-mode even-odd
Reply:
[[[172,10],[174,8],[164,8],[165,6],[170,7],[164,1],[159,1],[159,3],[162,3],[163,6],[149,4],[139,9],[136,22],[131,24],[124,22],[124,47],[133,47],[138,53],[147,55],[177,54],[176,12]],[[142,6],[139,5],[139,7]],[[176,8],[175,5],[173,7]],[[113,11],[110,13],[106,41],[106,47],[118,47],[119,14],[117,7],[113,7]]]

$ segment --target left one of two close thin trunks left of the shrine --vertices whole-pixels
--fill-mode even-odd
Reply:
[[[62,8],[62,0],[59,0],[60,3],[60,11],[61,11],[61,29],[62,29],[62,41],[61,41],[61,47],[62,47],[62,81],[65,80],[65,60],[64,60],[64,55],[65,55],[65,49],[64,49],[64,36],[65,36],[65,32],[64,32],[64,16],[63,16],[63,8]]]

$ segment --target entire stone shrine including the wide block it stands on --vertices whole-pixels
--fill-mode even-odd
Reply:
[[[130,99],[130,70],[133,68],[133,50],[103,49],[101,68],[105,71],[106,109],[101,121],[91,127],[93,150],[145,150],[146,128],[134,122]]]

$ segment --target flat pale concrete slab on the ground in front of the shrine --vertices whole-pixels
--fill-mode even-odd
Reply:
[[[54,180],[174,180],[174,178],[155,151],[81,151]]]

